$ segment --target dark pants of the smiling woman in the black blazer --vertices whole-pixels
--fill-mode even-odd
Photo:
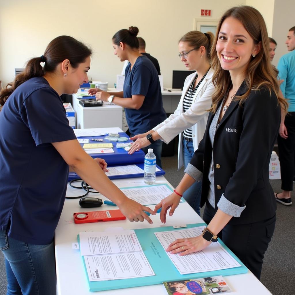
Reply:
[[[204,221],[209,224],[214,214],[214,208],[207,202],[203,216]],[[276,215],[270,219],[250,224],[227,224],[218,237],[260,280],[264,253],[271,241],[275,224]]]

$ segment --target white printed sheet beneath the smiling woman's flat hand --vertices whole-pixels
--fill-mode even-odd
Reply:
[[[196,237],[201,235],[204,226],[186,230],[155,232],[156,237],[164,249],[176,239]],[[199,252],[179,256],[166,252],[180,274],[201,273],[241,266],[219,242],[211,243]]]

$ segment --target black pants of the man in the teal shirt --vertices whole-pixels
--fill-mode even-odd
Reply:
[[[293,190],[294,178],[294,153],[295,153],[295,112],[290,112],[285,117],[285,126],[288,138],[284,139],[278,135],[278,158],[281,166],[281,189]]]

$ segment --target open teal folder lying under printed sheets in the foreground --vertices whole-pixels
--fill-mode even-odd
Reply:
[[[205,223],[197,223],[197,224],[187,224],[187,228],[198,227],[198,226],[206,226]],[[89,281],[86,265],[84,257],[83,264],[86,271],[86,277],[89,283],[89,291],[104,291],[104,290],[114,290],[114,289],[122,289],[122,288],[130,288],[130,287],[139,287],[139,286],[147,286],[147,285],[155,285],[161,284],[167,281],[179,281],[179,280],[187,280],[194,278],[205,278],[211,276],[230,276],[239,273],[247,273],[248,269],[246,266],[240,261],[237,256],[232,253],[232,251],[224,245],[224,243],[219,239],[219,243],[227,250],[230,255],[232,255],[241,266],[235,268],[222,269],[218,271],[207,271],[202,273],[190,273],[181,275],[179,271],[176,269],[174,264],[169,259],[166,251],[163,249],[162,245],[158,241],[155,236],[155,232],[164,232],[174,230],[173,227],[154,227],[154,228],[145,228],[134,230],[137,238],[140,242],[142,250],[148,259],[155,276],[148,276],[143,278],[130,278],[130,279],[122,279],[122,280],[111,280],[111,281]],[[176,229],[179,230],[179,229]],[[79,235],[78,235],[79,241]]]

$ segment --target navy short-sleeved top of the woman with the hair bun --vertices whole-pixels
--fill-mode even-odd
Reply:
[[[130,68],[131,63],[125,70],[123,96],[145,96],[140,109],[125,108],[129,130],[134,136],[151,130],[163,122],[167,116],[163,109],[158,72],[153,63],[145,55],[140,55],[131,71]]]

